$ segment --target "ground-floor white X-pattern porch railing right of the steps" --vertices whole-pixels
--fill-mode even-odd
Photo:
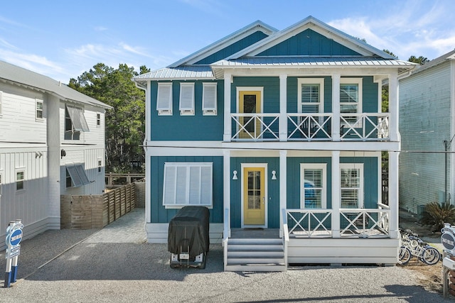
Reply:
[[[332,238],[339,230],[341,238],[388,238],[390,209],[340,209],[340,226],[332,226],[332,209],[287,209],[289,237]]]

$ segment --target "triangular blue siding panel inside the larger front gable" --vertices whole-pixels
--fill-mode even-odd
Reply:
[[[359,53],[346,48],[326,38],[325,36],[316,33],[311,29],[307,29],[293,37],[274,45],[268,50],[260,53],[259,56],[278,56],[278,55],[360,55]]]

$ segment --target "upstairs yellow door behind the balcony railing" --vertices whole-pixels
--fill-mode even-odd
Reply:
[[[239,92],[239,113],[240,114],[259,114],[261,112],[261,92],[260,91],[240,91]],[[240,117],[243,126],[240,138],[257,138],[261,133],[261,122],[254,116]]]

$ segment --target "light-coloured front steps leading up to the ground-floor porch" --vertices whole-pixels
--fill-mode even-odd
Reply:
[[[229,238],[225,271],[285,271],[281,238]]]

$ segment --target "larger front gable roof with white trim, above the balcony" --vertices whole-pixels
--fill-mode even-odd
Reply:
[[[289,26],[288,28],[285,28],[282,31],[274,33],[273,35],[269,35],[269,37],[264,38],[243,50],[240,50],[240,52],[230,55],[229,57],[226,57],[225,60],[258,55],[259,53],[262,53],[264,50],[272,48],[273,46],[282,43],[284,40],[287,40],[292,36],[296,35],[297,33],[301,33],[302,31],[305,31],[308,28],[313,31],[316,31],[316,33],[320,33],[321,35],[326,36],[327,38],[333,39],[337,43],[340,43],[341,45],[346,46],[347,48],[355,50],[355,52],[360,53],[360,55],[379,56],[385,59],[395,60],[397,59],[396,57],[393,57],[392,55],[387,54],[384,51],[379,50],[378,48],[374,48],[373,46],[363,42],[358,38],[354,38],[351,35],[343,33],[342,31],[339,31],[338,29],[333,28],[332,26],[329,26],[328,24],[323,23],[322,21],[319,21],[313,16],[308,16],[304,18],[304,20],[295,23],[294,25]]]

